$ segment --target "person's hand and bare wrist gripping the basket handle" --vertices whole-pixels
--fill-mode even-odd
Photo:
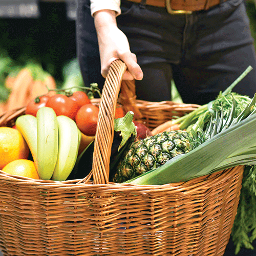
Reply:
[[[115,12],[98,11],[94,15],[94,22],[99,43],[101,75],[106,77],[111,63],[115,59],[121,59],[127,66],[123,80],[141,80],[143,72],[136,55],[130,51],[127,37],[117,27]]]

